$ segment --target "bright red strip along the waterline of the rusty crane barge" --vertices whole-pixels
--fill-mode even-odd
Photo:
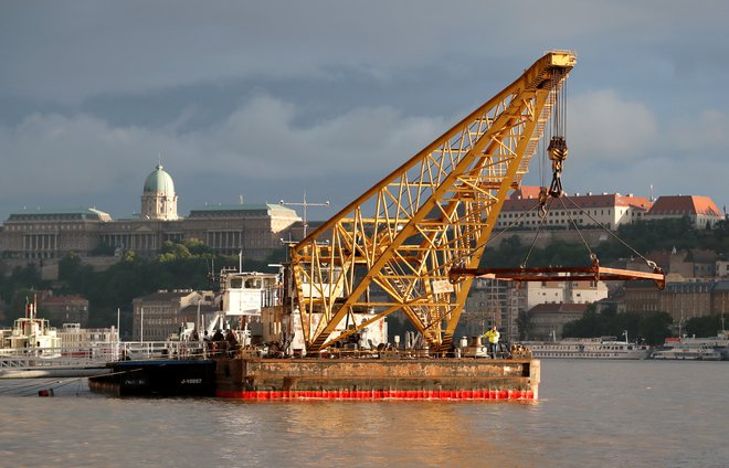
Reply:
[[[236,400],[533,400],[527,390],[261,390],[216,391],[215,396]]]

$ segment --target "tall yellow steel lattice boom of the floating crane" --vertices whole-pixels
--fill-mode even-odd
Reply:
[[[308,352],[394,311],[431,349],[452,342],[475,268],[518,188],[577,57],[549,52],[514,83],[290,248],[294,306]],[[370,300],[379,288],[388,299]],[[379,296],[382,296],[380,294]],[[356,312],[361,323],[341,330]]]

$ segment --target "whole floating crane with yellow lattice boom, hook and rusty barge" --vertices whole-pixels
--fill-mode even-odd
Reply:
[[[197,382],[193,387],[147,391],[202,394],[214,387],[218,396],[243,400],[537,400],[540,362],[529,350],[515,347],[508,359],[473,359],[482,348],[476,337],[471,345],[461,347],[473,349],[473,354],[456,358],[459,350],[451,351],[471,284],[483,274],[478,267],[501,205],[509,191],[520,187],[542,137],[549,140],[546,150],[552,161],[552,183],[542,188],[539,199],[542,221],[551,202],[566,198],[560,177],[568,147],[559,96],[574,64],[571,52],[547,53],[511,85],[290,246],[284,284],[278,276],[271,278],[270,306],[261,304],[260,313],[264,341],[277,347],[267,354],[283,358],[292,350],[292,359],[263,359],[263,349],[246,348],[235,357],[216,358],[212,373],[210,361],[146,369],[127,361],[117,363],[112,380],[99,379],[93,385],[119,393],[138,391],[120,377],[134,366],[149,382]],[[488,274],[520,281],[570,277],[564,275],[616,279],[633,272],[601,269],[594,257],[589,272],[522,266]],[[652,279],[657,281],[663,278],[658,272],[645,275],[655,275]],[[246,289],[240,283],[237,288],[232,281],[226,286],[229,295]],[[235,300],[223,302],[230,306]],[[251,313],[242,307],[239,311]],[[377,345],[368,338],[369,350],[360,353],[352,344],[369,337],[371,330],[364,329],[381,327],[393,312],[406,316],[423,345],[405,345],[401,351],[390,348],[387,337]],[[344,349],[334,349],[342,343]],[[306,359],[299,359],[302,348]],[[167,376],[172,368],[176,375]],[[166,376],[154,377],[159,374]]]

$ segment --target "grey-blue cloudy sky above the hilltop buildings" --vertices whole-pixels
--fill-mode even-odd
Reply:
[[[329,217],[552,49],[568,192],[729,201],[729,2],[0,2],[0,222],[330,200]],[[530,180],[538,182],[533,161]]]

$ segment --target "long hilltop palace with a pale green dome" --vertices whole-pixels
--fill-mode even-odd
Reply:
[[[11,264],[71,253],[85,257],[134,251],[154,256],[166,241],[197,238],[219,254],[242,251],[246,258],[265,259],[282,248],[282,238],[302,235],[302,219],[279,204],[205,205],[182,217],[177,202],[172,178],[159,164],[145,180],[138,216],[114,220],[97,209],[14,212],[0,231],[0,255]]]

